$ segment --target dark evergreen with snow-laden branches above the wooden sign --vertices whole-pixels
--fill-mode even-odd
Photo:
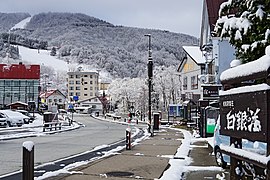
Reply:
[[[270,1],[228,0],[221,4],[215,33],[229,38],[243,63],[264,55],[270,44]]]

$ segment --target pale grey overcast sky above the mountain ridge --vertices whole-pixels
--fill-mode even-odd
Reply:
[[[78,12],[114,25],[199,37],[202,0],[0,0],[0,12]]]

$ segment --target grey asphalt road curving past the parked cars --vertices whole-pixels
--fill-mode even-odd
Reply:
[[[35,144],[37,166],[125,138],[125,125],[95,120],[89,115],[74,116],[74,119],[85,127],[52,135],[0,141],[0,176],[22,168],[22,144],[25,141]]]

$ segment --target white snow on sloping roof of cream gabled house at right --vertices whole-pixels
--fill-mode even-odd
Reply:
[[[199,46],[183,46],[183,49],[197,64],[205,63],[205,58]]]

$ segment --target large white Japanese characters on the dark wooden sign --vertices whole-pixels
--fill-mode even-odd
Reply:
[[[227,130],[260,132],[261,121],[258,116],[259,112],[259,108],[256,108],[255,111],[247,108],[246,111],[238,111],[237,113],[232,113],[231,110],[226,115]]]

